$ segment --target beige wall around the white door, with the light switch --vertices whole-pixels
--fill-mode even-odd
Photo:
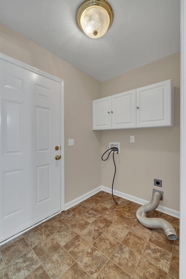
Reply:
[[[99,187],[101,132],[92,131],[92,100],[101,98],[101,83],[2,24],[0,52],[65,81],[65,203]]]

